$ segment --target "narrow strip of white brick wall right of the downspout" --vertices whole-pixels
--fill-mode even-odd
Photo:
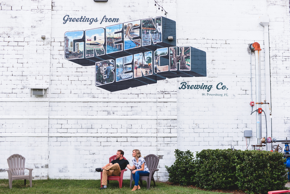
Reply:
[[[271,101],[273,108],[273,136],[284,138],[290,134],[288,91],[289,84],[289,1],[268,3],[269,45],[271,63]],[[272,25],[270,25],[272,24]]]

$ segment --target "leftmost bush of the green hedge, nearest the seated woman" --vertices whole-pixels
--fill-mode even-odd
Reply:
[[[175,150],[175,162],[171,167],[165,166],[169,181],[178,184],[192,184],[195,174],[193,153],[189,150]]]

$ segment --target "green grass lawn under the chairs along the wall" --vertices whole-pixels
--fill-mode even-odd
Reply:
[[[133,182],[134,183],[134,182]],[[165,183],[156,183],[156,187],[151,182],[150,190],[146,189],[146,182],[143,181],[143,186],[139,191],[131,191],[129,188],[130,180],[124,180],[124,184],[119,189],[117,181],[110,181],[107,189],[99,190],[100,180],[63,180],[63,179],[49,179],[49,180],[33,180],[32,188],[29,186],[29,181],[24,180],[12,181],[12,189],[9,189],[8,179],[0,179],[0,193],[69,193],[69,194],[90,194],[90,193],[197,193],[197,194],[213,194],[211,191],[200,191],[195,188],[187,188],[183,186],[171,186]]]

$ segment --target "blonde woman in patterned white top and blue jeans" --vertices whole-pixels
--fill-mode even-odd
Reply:
[[[144,158],[141,156],[140,150],[133,150],[132,156],[134,157],[132,159],[133,167],[135,167],[135,170],[132,171],[133,179],[135,182],[135,185],[132,191],[135,191],[137,189],[140,189],[139,177],[149,176],[150,171],[147,168]]]

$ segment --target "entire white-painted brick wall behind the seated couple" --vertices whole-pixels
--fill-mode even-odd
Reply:
[[[106,164],[116,150],[124,150],[131,163],[131,151],[139,149],[143,156],[162,158],[156,176],[165,181],[165,166],[173,164],[175,149],[195,152],[233,145],[245,150],[244,130],[253,131],[247,143],[255,144],[255,116],[250,115],[249,106],[250,69],[255,101],[255,56],[251,67],[247,47],[258,42],[262,48],[264,100],[264,28],[258,20],[262,15],[270,19],[271,99],[267,102],[273,118],[268,136],[289,137],[289,1],[160,2],[166,17],[176,21],[177,46],[206,52],[207,76],[160,80],[116,92],[95,87],[94,66],[64,58],[66,31],[104,28],[108,23],[62,24],[62,19],[70,15],[101,20],[106,15],[123,23],[164,16],[156,11],[154,1],[0,3],[0,178],[7,178],[3,169],[14,153],[26,157],[35,179],[99,179],[94,169]],[[182,82],[213,88],[209,92],[178,89]],[[228,90],[216,89],[220,82]],[[31,97],[33,85],[48,85],[47,96]],[[265,127],[263,114],[262,136],[266,136]]]

